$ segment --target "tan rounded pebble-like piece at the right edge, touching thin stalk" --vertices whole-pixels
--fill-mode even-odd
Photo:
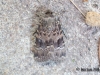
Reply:
[[[100,14],[97,12],[87,12],[86,23],[90,26],[100,26]]]

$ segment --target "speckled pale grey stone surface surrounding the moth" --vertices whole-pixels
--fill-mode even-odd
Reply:
[[[73,0],[84,14],[100,12],[100,0]],[[60,15],[67,36],[66,60],[41,65],[30,51],[33,15],[43,5]],[[0,75],[100,75],[76,68],[98,67],[97,41],[100,27],[85,24],[84,17],[69,0],[0,0]]]

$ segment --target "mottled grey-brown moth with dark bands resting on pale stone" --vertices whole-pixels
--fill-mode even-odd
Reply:
[[[42,14],[40,14],[42,13]],[[59,18],[51,10],[36,11],[38,28],[35,32],[34,58],[36,61],[62,60],[66,56],[63,31]]]

